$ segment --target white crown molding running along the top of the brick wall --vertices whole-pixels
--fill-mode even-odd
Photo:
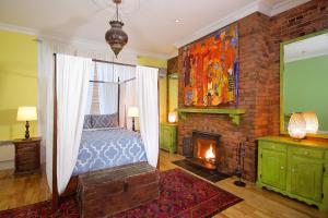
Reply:
[[[303,3],[306,3],[311,0],[285,0],[283,2],[280,2],[278,4],[268,4],[263,0],[257,0],[255,2],[251,2],[247,4],[244,8],[241,8],[232,13],[230,13],[227,16],[195,32],[190,36],[187,36],[180,40],[177,40],[174,46],[176,48],[180,48],[183,46],[186,46],[201,37],[204,37],[233,22],[236,22],[241,19],[244,19],[245,16],[253,14],[255,12],[261,12],[268,16],[277,15],[281,12],[284,12],[286,10],[290,10],[292,8],[295,8],[297,5],[301,5]]]

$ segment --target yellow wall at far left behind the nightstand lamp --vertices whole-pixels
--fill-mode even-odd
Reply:
[[[31,35],[0,31],[0,141],[24,137],[19,106],[37,106],[37,43]],[[31,135],[37,122],[31,122]]]

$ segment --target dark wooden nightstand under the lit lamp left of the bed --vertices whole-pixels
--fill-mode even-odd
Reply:
[[[30,140],[14,140],[15,145],[15,173],[40,172],[40,137]]]

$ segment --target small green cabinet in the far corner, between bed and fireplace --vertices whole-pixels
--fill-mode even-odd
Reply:
[[[161,123],[161,148],[176,153],[176,123]]]

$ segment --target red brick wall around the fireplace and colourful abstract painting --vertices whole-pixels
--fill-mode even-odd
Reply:
[[[279,45],[282,40],[328,27],[328,1],[317,0],[289,10],[273,17],[261,13],[238,21],[239,27],[239,105],[246,110],[241,125],[232,124],[225,114],[187,114],[178,123],[178,153],[183,153],[183,138],[192,130],[222,135],[222,171],[232,173],[236,166],[235,148],[246,148],[244,178],[256,179],[256,138],[279,134]],[[178,56],[178,105],[184,107],[181,49]]]

